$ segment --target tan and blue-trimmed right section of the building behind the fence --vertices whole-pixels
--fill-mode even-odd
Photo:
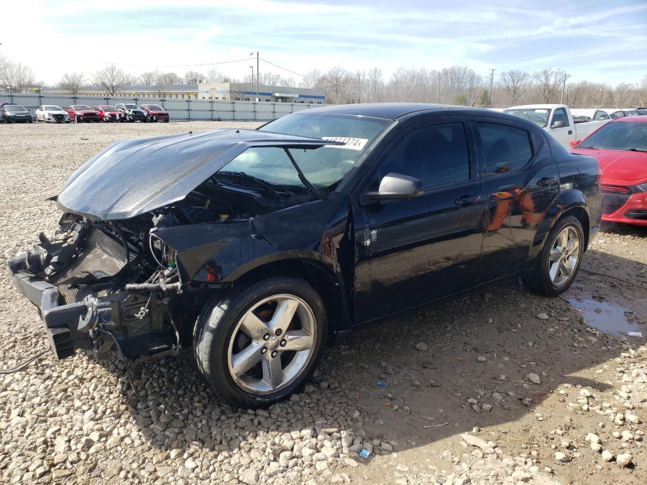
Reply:
[[[282,87],[259,85],[258,96],[256,83],[200,83],[199,100],[250,101],[260,103],[305,103],[325,104],[323,89],[303,87]]]

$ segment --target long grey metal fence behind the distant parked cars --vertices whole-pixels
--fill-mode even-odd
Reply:
[[[0,92],[0,103],[17,103],[32,111],[40,105],[56,105],[63,108],[72,104],[115,105],[116,103],[159,104],[168,111],[171,120],[223,120],[223,121],[270,121],[284,114],[323,106],[310,103],[270,103],[221,100],[179,100],[166,98],[132,98],[128,96],[66,96],[61,94]]]

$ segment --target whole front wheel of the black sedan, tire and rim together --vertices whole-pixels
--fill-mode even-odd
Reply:
[[[292,318],[272,320],[285,312]],[[276,277],[208,303],[193,330],[193,351],[215,393],[237,407],[267,407],[302,389],[325,336],[325,308],[314,288],[302,279]]]

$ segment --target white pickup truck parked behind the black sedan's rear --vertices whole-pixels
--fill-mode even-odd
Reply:
[[[539,125],[553,135],[567,150],[571,149],[571,140],[584,140],[600,126],[609,122],[609,120],[573,120],[571,110],[564,104],[513,106],[504,109],[503,113],[521,116],[521,118]]]

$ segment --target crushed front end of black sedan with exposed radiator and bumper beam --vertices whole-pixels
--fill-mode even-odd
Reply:
[[[97,360],[114,349],[131,361],[179,350],[171,316],[182,292],[175,252],[144,218],[66,213],[54,238],[41,233],[34,250],[8,266],[16,288],[39,307],[59,359],[76,349]]]

